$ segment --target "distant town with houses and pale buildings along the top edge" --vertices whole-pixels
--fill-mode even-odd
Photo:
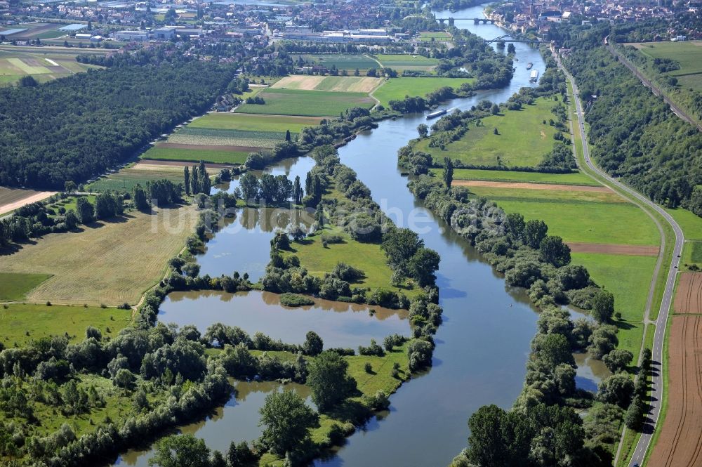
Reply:
[[[486,8],[491,20],[515,32],[548,37],[555,22],[577,18],[612,23],[670,18],[682,11],[697,11],[692,1],[559,1],[522,0]],[[225,41],[248,37],[268,42],[280,40],[331,44],[387,45],[413,41],[411,31],[399,27],[404,18],[398,4],[371,1],[289,5],[225,4],[183,1],[174,4],[127,1],[54,1],[17,3],[0,0],[0,41],[23,41],[22,24],[61,22],[51,41],[63,45],[117,48],[124,43],[200,39]],[[671,32],[661,40],[698,39],[699,31]],[[61,39],[61,40],[58,40]],[[39,39],[41,40],[41,39]],[[49,41],[49,43],[51,43]],[[115,44],[110,44],[113,42]],[[414,44],[416,45],[416,40]]]

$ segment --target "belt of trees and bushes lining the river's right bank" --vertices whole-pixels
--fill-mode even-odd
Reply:
[[[542,86],[522,89],[505,107],[528,105],[527,101],[536,97],[564,92],[562,75],[549,68]],[[456,128],[465,133],[465,122],[490,111],[491,105],[484,103],[470,112],[444,117],[445,121],[435,124],[432,137],[439,140]],[[564,126],[564,121],[563,115],[559,126]],[[419,131],[422,133],[422,129]],[[463,187],[451,188],[453,160],[444,160],[440,180],[428,173],[437,161],[418,154],[413,147],[411,144],[399,150],[399,164],[415,174],[409,183],[413,194],[474,245],[505,275],[509,285],[527,289],[541,313],[522,394],[510,411],[485,406],[470,417],[468,449],[454,459],[453,465],[611,465],[625,411],[632,414],[627,416],[632,425],[642,419],[641,399],[635,394],[640,394],[639,387],[645,385],[645,378],[639,378],[635,388],[627,374],[633,354],[616,348],[617,328],[611,324],[614,296],[597,287],[583,266],[571,264],[569,247],[560,237],[548,235],[548,225],[543,221],[524,221],[519,213],[506,214],[484,197],[469,197]],[[570,150],[559,157],[551,154],[545,160],[558,162],[549,163],[555,167],[535,170],[574,169]],[[594,322],[584,318],[572,321],[570,313],[562,308],[569,303],[589,310]],[[572,353],[578,351],[602,359],[614,373],[600,383],[594,395],[576,388]],[[588,415],[578,416],[576,411],[585,408]],[[545,435],[547,432],[553,436]]]

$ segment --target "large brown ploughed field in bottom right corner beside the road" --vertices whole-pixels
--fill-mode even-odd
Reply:
[[[668,414],[649,466],[702,463],[702,315],[674,315],[668,351]]]

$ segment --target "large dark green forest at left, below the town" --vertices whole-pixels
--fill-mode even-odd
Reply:
[[[173,60],[0,90],[0,185],[62,189],[203,112],[233,67]]]

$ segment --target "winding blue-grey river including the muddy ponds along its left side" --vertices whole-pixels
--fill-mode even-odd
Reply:
[[[439,18],[477,18],[482,16],[482,8],[477,6],[456,13],[435,13]],[[500,27],[475,25],[472,20],[456,20],[456,27],[469,29],[486,39],[505,34]],[[541,74],[545,69],[543,58],[536,48],[527,44],[515,43],[515,47],[518,61],[515,62],[515,76],[509,86],[479,91],[472,98],[453,100],[442,105],[442,108],[468,109],[483,99],[501,103],[522,86],[534,86],[529,84],[530,72],[526,65],[534,63],[533,70]],[[522,390],[529,343],[536,332],[538,319],[524,290],[508,287],[503,277],[482,261],[475,249],[416,202],[406,188],[407,178],[397,168],[397,150],[411,138],[416,138],[416,127],[425,122],[424,114],[381,121],[378,129],[359,135],[341,147],[339,154],[343,164],[358,173],[359,179],[371,189],[373,199],[398,226],[418,232],[425,245],[441,255],[437,284],[439,301],[444,308],[444,323],[435,336],[437,347],[433,366],[392,395],[389,413],[373,418],[364,428],[357,430],[343,447],[326,459],[318,460],[316,466],[446,466],[467,444],[470,414],[484,404],[509,408]],[[279,164],[272,172],[300,175],[304,180],[304,174],[311,166],[309,158],[302,158],[295,164]],[[219,188],[232,190],[234,185],[236,182]],[[256,215],[251,211],[240,212],[237,220],[231,224],[238,226],[239,230],[225,228],[216,233],[208,243],[206,252],[198,257],[203,273],[231,274],[239,270],[242,273],[248,271],[254,280],[260,277],[267,263],[267,242],[272,237],[272,228],[252,229],[251,222],[246,219],[250,220],[251,216]],[[284,219],[274,224],[284,228],[293,221]],[[249,228],[245,228],[246,225]],[[258,292],[249,295],[249,302],[246,302],[249,308],[260,307],[260,303],[256,302],[256,305],[251,302],[256,299],[260,301],[260,298],[252,298],[259,296]],[[225,294],[205,294],[201,297],[197,294],[172,294],[161,307],[159,317],[178,324],[193,322],[199,327],[206,327],[216,319],[237,324],[237,313],[241,312],[235,311],[232,303],[229,303],[232,298],[241,299]],[[272,306],[281,308],[279,304]],[[330,313],[329,310],[317,308],[312,311],[286,310],[286,320],[295,321],[293,334],[296,335],[282,336],[283,340],[300,341],[298,334],[303,329],[317,326],[322,338],[326,336],[326,339],[331,339],[329,342],[325,339],[326,346],[336,346],[336,343],[350,345],[358,336],[341,336],[340,330],[343,331],[345,325],[349,329],[362,329],[364,338],[386,332],[388,326],[406,326],[406,320],[399,314],[388,313],[385,320],[369,316],[360,319],[366,313],[357,313],[358,310],[354,313],[350,309]],[[201,313],[189,318],[188,310],[192,310],[191,315],[195,310],[207,310],[207,313],[206,316]],[[246,320],[253,321],[244,320],[240,324],[258,326],[261,329],[256,330],[277,336],[277,331],[287,325],[274,319],[274,316],[281,316],[281,310],[268,310],[267,313],[272,313],[270,317],[273,318],[253,319],[251,313],[242,313],[246,315]],[[331,319],[327,319],[329,316]],[[333,324],[332,320],[342,316],[338,324]],[[586,358],[580,357],[578,362],[585,363]],[[597,367],[578,369],[578,385],[591,389],[599,381],[601,373]],[[265,392],[275,387],[267,386]],[[241,393],[206,421],[187,426],[183,431],[201,436],[211,449],[223,451],[232,440],[238,442],[256,438],[258,419],[251,416],[255,405],[251,400],[259,400],[260,404],[263,397],[247,396],[249,403],[239,400],[240,397]],[[146,452],[132,451],[121,456],[118,464],[146,466],[147,459]]]

